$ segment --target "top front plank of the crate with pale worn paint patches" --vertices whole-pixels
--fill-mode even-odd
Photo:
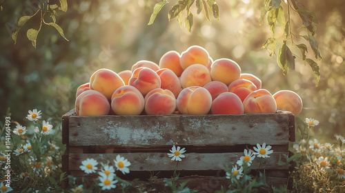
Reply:
[[[70,145],[237,145],[289,141],[288,114],[70,116]]]

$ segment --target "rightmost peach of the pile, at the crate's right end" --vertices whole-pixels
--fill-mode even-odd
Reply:
[[[277,103],[277,109],[287,110],[297,116],[303,108],[301,97],[291,90],[279,90],[273,94],[273,98]]]

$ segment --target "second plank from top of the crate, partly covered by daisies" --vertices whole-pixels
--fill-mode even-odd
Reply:
[[[278,165],[279,156],[284,157],[287,152],[273,152],[270,154],[269,159],[266,161],[265,166],[259,166],[259,158],[255,158],[250,168],[255,169],[266,169],[266,170],[288,170],[288,167]],[[124,156],[131,165],[130,171],[160,171],[160,170],[175,170],[177,161],[170,161],[170,157],[166,153],[130,153],[120,154]],[[178,163],[177,170],[189,170],[189,171],[203,171],[203,170],[224,170],[224,164],[229,162],[236,163],[237,160],[244,153],[219,153],[219,154],[197,154],[189,153],[185,154],[186,157],[183,161]],[[93,158],[98,161],[110,161],[117,154],[70,154],[69,157],[69,170],[80,170],[79,166],[81,161],[88,158]]]

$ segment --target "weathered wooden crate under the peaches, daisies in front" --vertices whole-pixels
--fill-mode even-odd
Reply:
[[[62,133],[67,147],[62,158],[63,171],[76,177],[84,174],[79,169],[81,161],[93,158],[112,162],[120,154],[131,163],[130,174],[121,176],[124,179],[147,181],[152,172],[159,179],[169,178],[177,162],[170,161],[167,153],[172,145],[178,145],[186,148],[186,157],[177,167],[181,176],[192,179],[189,185],[192,188],[210,192],[211,187],[219,190],[220,185],[226,185],[224,164],[236,163],[245,148],[253,150],[257,143],[266,143],[274,151],[266,159],[266,165],[259,168],[256,158],[250,168],[264,169],[269,185],[291,185],[288,179],[291,168],[278,165],[279,158],[290,156],[289,141],[295,141],[295,117],[290,112],[77,116],[71,110],[62,117]],[[163,183],[159,179],[156,185],[159,181]]]

